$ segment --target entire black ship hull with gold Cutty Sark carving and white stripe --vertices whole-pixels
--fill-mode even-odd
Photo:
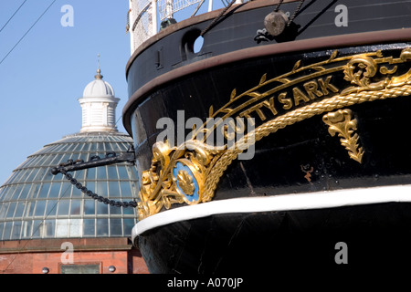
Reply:
[[[372,9],[355,3],[354,18]],[[311,1],[294,20],[303,30],[262,43],[243,36],[273,7],[240,5],[205,34],[200,53],[185,45],[211,18],[171,26],[133,55],[123,112],[141,171],[133,241],[152,273],[361,269],[411,259],[409,25],[375,17],[336,34],[335,5]],[[164,117],[174,131],[159,126]],[[204,123],[193,127],[190,118]],[[222,133],[222,147],[200,133]]]

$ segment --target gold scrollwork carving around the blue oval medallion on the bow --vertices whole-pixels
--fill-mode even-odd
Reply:
[[[173,203],[208,201],[204,193],[206,170],[211,156],[201,143],[187,141],[184,147],[170,147],[167,141],[153,144],[151,168],[142,172],[139,219],[158,213]]]

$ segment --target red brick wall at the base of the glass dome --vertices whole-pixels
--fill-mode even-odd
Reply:
[[[43,267],[48,268],[48,274],[58,274],[62,265],[89,264],[99,265],[102,274],[148,274],[140,251],[130,245],[127,238],[0,243],[2,274],[42,274]],[[115,271],[109,271],[109,266],[115,266]]]

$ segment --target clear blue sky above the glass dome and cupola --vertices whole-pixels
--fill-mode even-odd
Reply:
[[[0,1],[0,29],[24,0]],[[0,61],[52,0],[28,0],[0,32]],[[74,26],[64,27],[63,5]],[[79,132],[83,89],[94,79],[97,54],[103,79],[127,101],[127,0],[57,0],[0,64],[0,185],[26,157],[47,143]],[[118,129],[125,132],[121,120]]]

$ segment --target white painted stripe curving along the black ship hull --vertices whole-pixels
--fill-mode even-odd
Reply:
[[[154,214],[135,224],[132,240],[155,227],[212,214],[310,210],[390,202],[411,202],[411,185],[246,197],[187,205]]]

